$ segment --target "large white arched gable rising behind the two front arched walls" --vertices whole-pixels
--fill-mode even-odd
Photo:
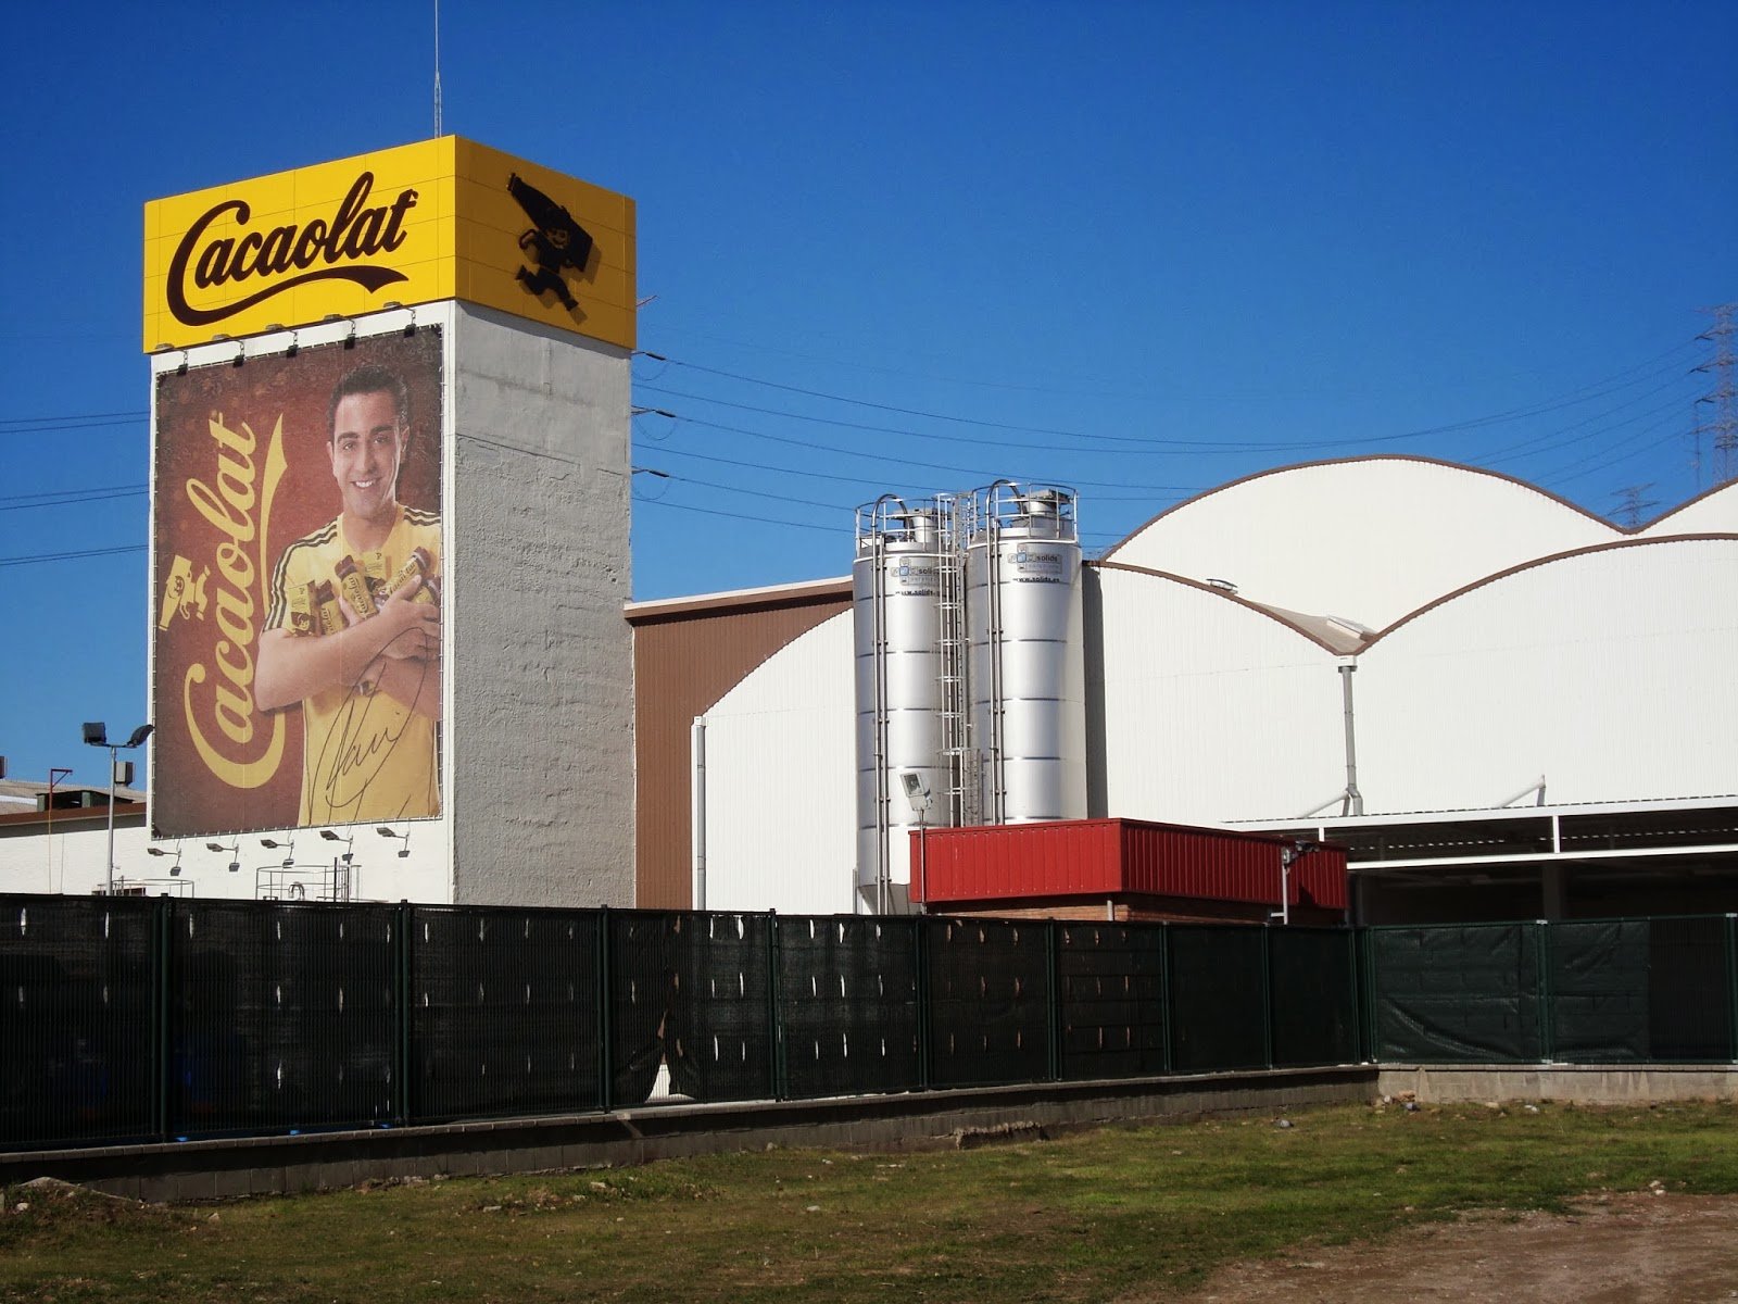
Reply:
[[[1484,575],[1623,534],[1495,471],[1375,456],[1234,480],[1154,516],[1105,560],[1382,628]]]

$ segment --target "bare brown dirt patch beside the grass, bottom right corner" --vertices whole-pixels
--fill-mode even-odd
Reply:
[[[1677,1304],[1738,1299],[1738,1196],[1613,1194],[1566,1217],[1483,1212],[1380,1245],[1217,1273],[1191,1301]]]

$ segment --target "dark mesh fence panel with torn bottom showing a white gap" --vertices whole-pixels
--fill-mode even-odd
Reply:
[[[612,1104],[640,1104],[657,1068],[695,1101],[773,1095],[766,915],[610,915]]]

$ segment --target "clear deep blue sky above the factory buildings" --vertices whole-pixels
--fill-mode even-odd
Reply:
[[[1677,504],[1733,49],[1724,0],[441,5],[445,129],[638,202],[641,598],[843,574],[855,504],[1003,475],[1091,553],[1363,452]],[[14,777],[146,718],[144,202],[421,139],[433,63],[431,3],[9,14]]]

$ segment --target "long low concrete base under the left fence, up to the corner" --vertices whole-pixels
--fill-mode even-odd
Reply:
[[[853,1151],[966,1146],[998,1132],[1036,1139],[1045,1130],[1277,1113],[1373,1101],[1375,1095],[1375,1068],[1352,1066],[836,1101],[659,1106],[563,1118],[0,1154],[0,1184],[59,1177],[134,1200],[228,1200],[344,1188],[368,1179],[607,1168],[766,1146]]]

